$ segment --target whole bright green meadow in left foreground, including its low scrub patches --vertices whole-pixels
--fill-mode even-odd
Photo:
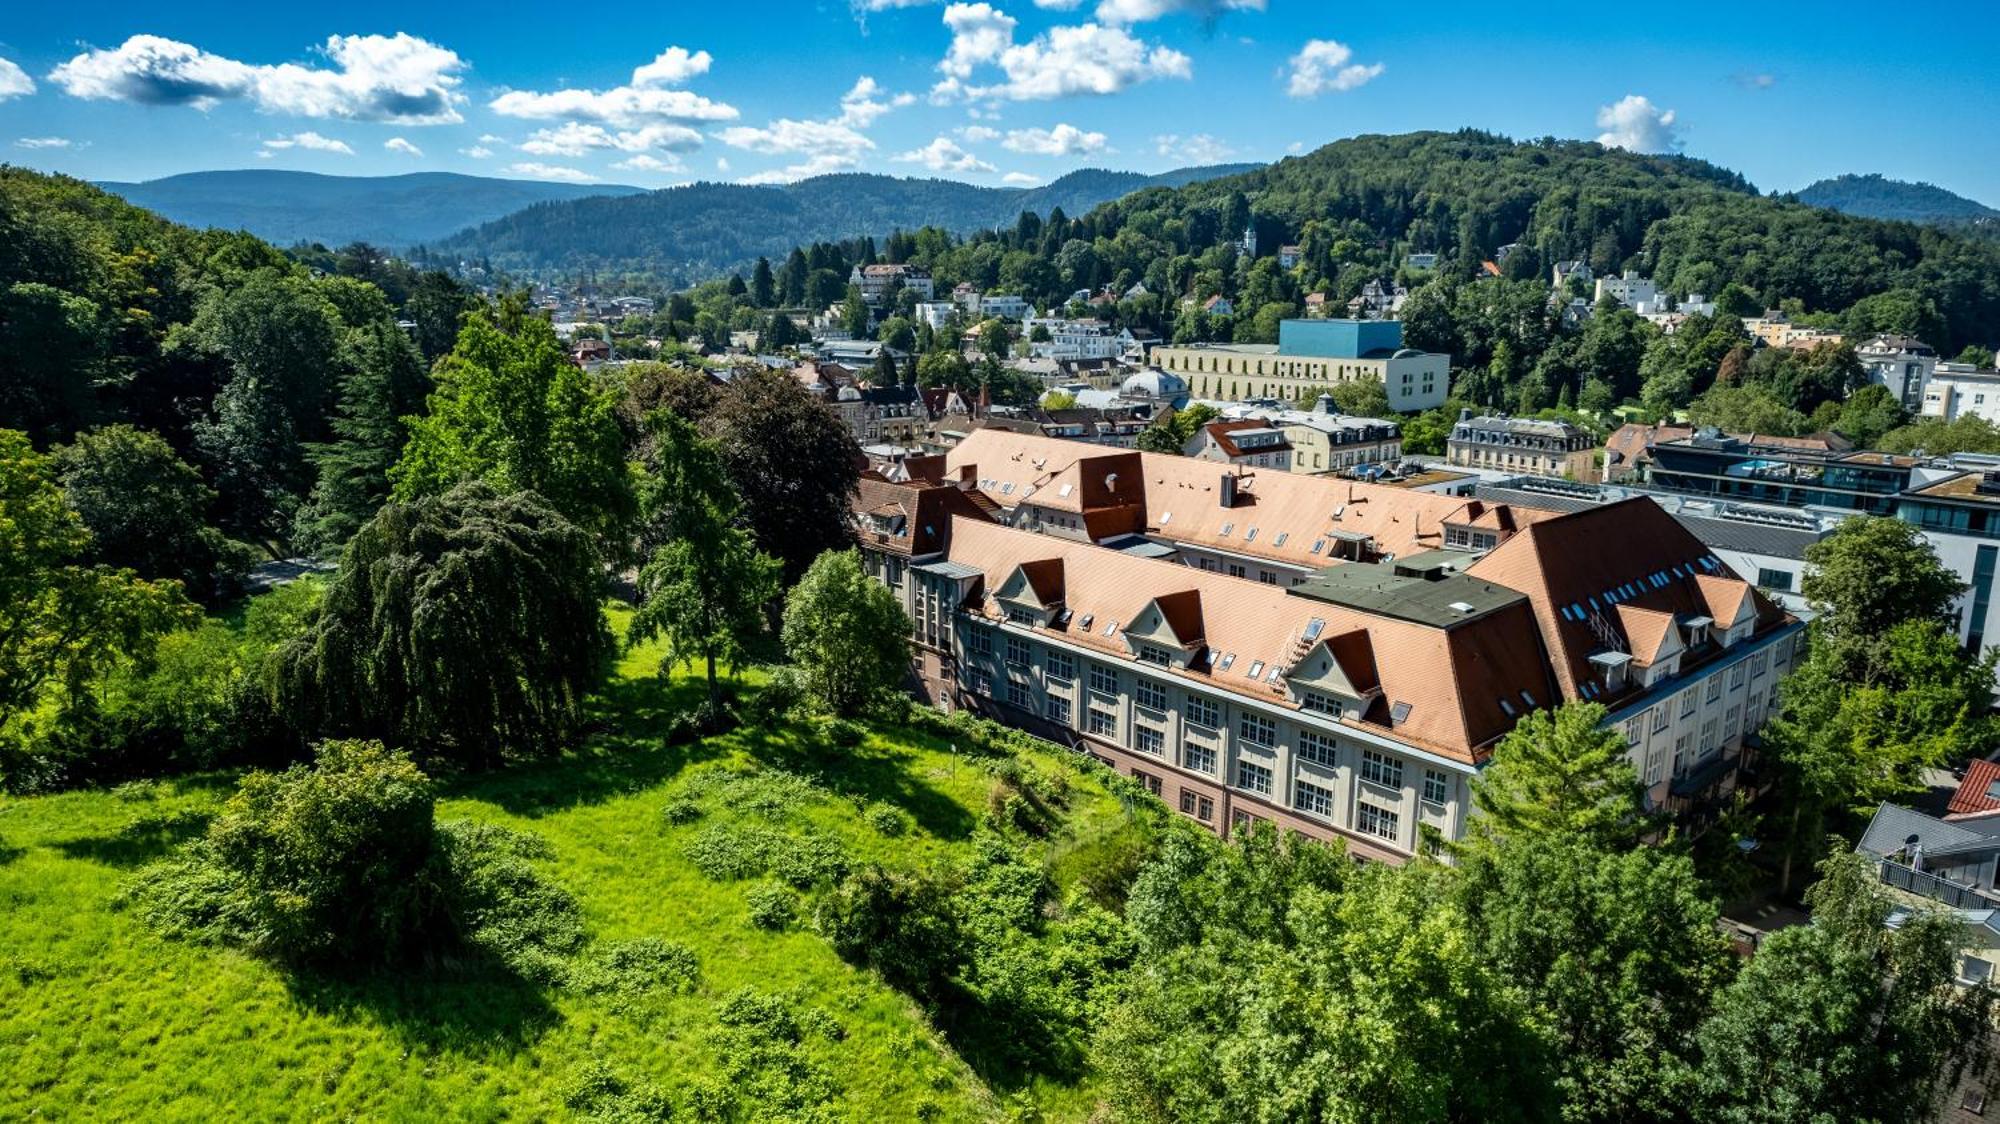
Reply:
[[[1060,902],[1136,852],[1132,792],[1054,748],[972,752],[900,726],[672,746],[702,688],[656,666],[650,648],[624,658],[576,752],[446,780],[438,820],[546,840],[538,866],[580,900],[584,956],[664,940],[692,952],[680,986],[538,986],[480,964],[286,972],[166,940],[124,894],[202,832],[232,774],[0,798],[0,1120],[1088,1116],[1086,1074],[1022,1066],[976,1012],[932,1018],[850,966],[788,882],[826,862],[962,860],[992,834],[1000,774],[1026,770],[1062,792],[1022,844]]]

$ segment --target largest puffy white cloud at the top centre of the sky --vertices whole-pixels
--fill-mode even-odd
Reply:
[[[1076,24],[1048,28],[1024,44],[1014,42],[1014,18],[992,4],[952,4],[944,10],[952,46],[930,90],[932,102],[958,98],[1008,98],[1018,102],[1072,94],[1116,94],[1154,78],[1190,78],[1186,54],[1146,44],[1124,28]],[[1004,82],[972,82],[980,66],[998,66]]]

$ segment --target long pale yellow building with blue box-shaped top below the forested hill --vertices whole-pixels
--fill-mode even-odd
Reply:
[[[1300,400],[1376,378],[1398,412],[1438,406],[1452,382],[1452,358],[1402,346],[1400,320],[1284,320],[1276,344],[1170,344],[1152,350],[1152,364],[1198,398]]]

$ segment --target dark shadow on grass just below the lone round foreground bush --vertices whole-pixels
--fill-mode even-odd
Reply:
[[[286,974],[286,990],[308,1010],[374,1022],[426,1054],[504,1054],[562,1020],[542,986],[494,958],[446,968],[300,968]]]

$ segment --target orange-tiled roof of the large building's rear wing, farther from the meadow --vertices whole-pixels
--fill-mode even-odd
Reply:
[[[946,464],[954,476],[972,466],[980,492],[1002,508],[1026,500],[1082,512],[1092,538],[1146,532],[1308,568],[1334,562],[1328,550],[1334,532],[1368,536],[1380,552],[1400,558],[1444,546],[1446,522],[1470,522],[1480,512],[1492,524],[1504,518],[1516,528],[1558,518],[1556,512],[1388,484],[1278,470],[1244,472],[1212,460],[1112,450],[994,428],[970,434],[946,452]],[[1220,498],[1224,474],[1236,478],[1236,504],[1228,508]],[[1064,484],[1070,486],[1068,494],[1062,494]],[[1248,538],[1252,528],[1256,536]]]

